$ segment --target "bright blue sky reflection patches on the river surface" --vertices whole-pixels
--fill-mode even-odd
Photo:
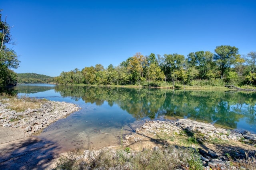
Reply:
[[[24,85],[26,86],[26,85]],[[32,85],[29,85],[32,86]],[[38,85],[38,86],[49,86],[54,87],[55,85]],[[104,101],[102,105],[96,105],[95,103],[85,103],[81,98],[77,98],[77,101],[72,98],[72,96],[68,97],[62,97],[60,93],[56,92],[54,89],[46,90],[43,92],[37,92],[37,93],[18,93],[19,97],[26,96],[26,97],[36,97],[36,98],[44,98],[51,101],[64,101],[68,103],[74,103],[76,105],[79,105],[82,109],[69,117],[67,117],[65,120],[66,125],[73,125],[78,126],[77,128],[104,128],[104,127],[113,127],[113,128],[121,128],[122,126],[128,125],[129,123],[135,121],[135,118],[132,117],[131,114],[129,114],[127,111],[124,111],[120,109],[120,107],[117,104],[113,104],[112,106],[108,105],[108,102]],[[147,103],[148,105],[148,103]],[[226,101],[223,101],[223,107],[228,107],[228,103]],[[186,107],[183,106],[183,107]],[[233,104],[229,105],[230,110],[228,110],[228,113],[234,112],[236,114],[241,115],[239,122],[236,123],[236,127],[239,131],[248,130],[250,132],[256,132],[256,123],[253,121],[255,120],[255,107],[251,107],[249,104]],[[216,113],[219,112],[219,106],[215,106],[213,109],[213,112]],[[179,107],[174,106],[173,111],[178,112]],[[251,109],[251,110],[250,110]],[[186,109],[185,109],[186,110]],[[251,113],[249,113],[249,110]],[[197,113],[200,112],[199,108],[194,108],[193,111],[196,111]],[[161,113],[166,113],[166,110],[159,110]],[[184,115],[184,118],[190,118],[190,111],[186,110],[186,115]],[[214,114],[213,114],[214,115]],[[238,115],[238,116],[239,116]],[[240,116],[239,116],[240,117]],[[142,118],[143,119],[143,118]],[[193,119],[191,117],[191,119]],[[202,119],[201,119],[202,120]],[[212,124],[218,123],[218,119],[216,121],[210,122]],[[252,125],[250,125],[252,124]]]

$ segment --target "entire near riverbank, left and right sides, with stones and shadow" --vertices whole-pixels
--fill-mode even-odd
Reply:
[[[8,139],[0,144],[0,169],[52,168],[52,163],[60,156],[52,150],[60,146],[52,141],[39,140],[36,136],[26,136],[40,133],[42,128],[47,127],[51,122],[65,118],[72,111],[76,111],[78,107],[70,103],[40,100],[39,105],[34,105],[38,108],[14,111],[11,109],[13,105],[10,104],[10,100],[2,99],[0,101],[2,125],[0,140]],[[14,100],[14,104],[17,105],[18,101],[16,100],[18,99]],[[36,101],[30,100],[22,102],[23,105],[36,103]],[[22,109],[24,108],[25,106],[22,107]],[[138,125],[140,126],[138,127]],[[116,162],[120,169],[122,167],[139,169],[132,164],[133,161],[135,163],[141,161],[139,164],[144,166],[141,169],[145,169],[152,160],[152,156],[157,157],[158,163],[150,163],[154,164],[156,168],[165,167],[164,162],[169,160],[177,161],[169,162],[172,164],[169,167],[171,169],[188,169],[193,164],[198,164],[198,167],[204,166],[205,169],[240,169],[241,167],[253,169],[251,167],[256,167],[250,166],[256,165],[255,159],[253,159],[256,154],[256,136],[248,131],[238,132],[217,128],[208,123],[189,119],[137,121],[130,127],[134,129],[135,133],[121,136],[120,146],[111,146],[100,150],[80,150],[79,154],[72,155],[73,159],[75,156],[75,160],[79,160],[85,169],[86,167],[87,169],[97,168],[93,166],[95,161],[104,163],[104,160],[108,161],[108,158],[120,160],[121,162]],[[37,128],[38,130],[36,130]],[[6,131],[4,132],[3,129]],[[15,139],[17,137],[20,139]],[[196,150],[198,152],[194,152]],[[111,157],[109,154],[114,154],[114,156]],[[104,155],[107,158],[103,158]],[[134,158],[136,160],[133,160]],[[163,162],[159,163],[162,158]],[[63,160],[63,157],[60,157],[59,160]],[[109,162],[114,160],[109,160]],[[73,164],[73,166],[75,165],[78,164]],[[103,165],[101,168],[116,167],[114,164],[108,167],[103,167]],[[152,166],[148,167],[152,168]]]

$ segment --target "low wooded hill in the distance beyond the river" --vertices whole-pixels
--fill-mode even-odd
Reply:
[[[18,83],[52,83],[54,77],[36,73],[18,73]]]

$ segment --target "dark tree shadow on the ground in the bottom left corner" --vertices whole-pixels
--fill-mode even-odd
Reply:
[[[52,141],[29,137],[0,145],[1,170],[50,168],[60,146]]]

